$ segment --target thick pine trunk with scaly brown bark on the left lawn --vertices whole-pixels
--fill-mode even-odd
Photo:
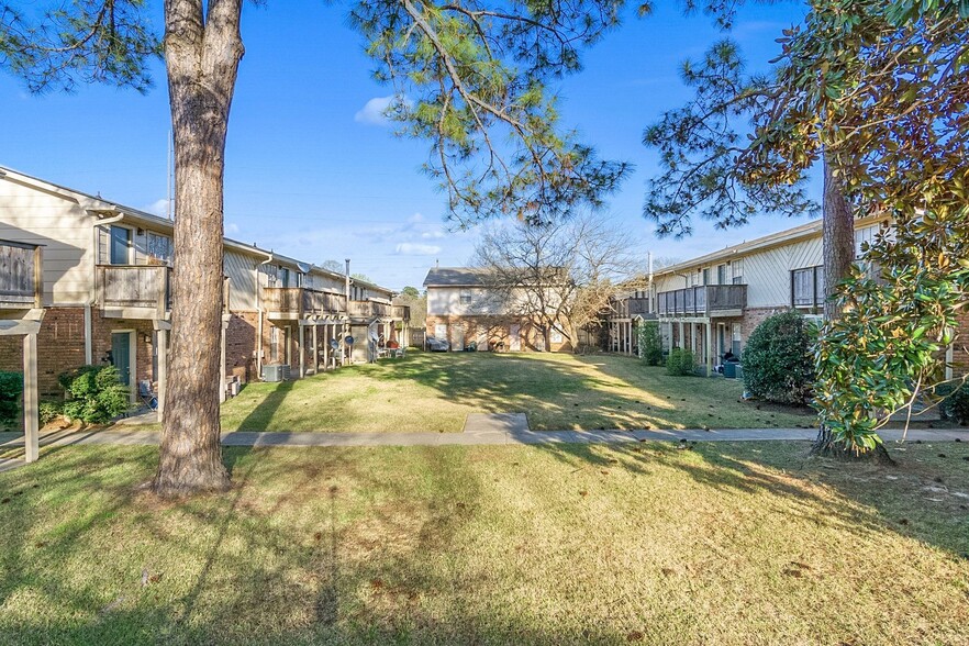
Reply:
[[[175,275],[162,495],[230,487],[222,464],[223,177],[238,62],[241,0],[166,0],[165,58],[175,138]]]

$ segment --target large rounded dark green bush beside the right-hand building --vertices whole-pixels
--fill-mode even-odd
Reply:
[[[745,389],[767,401],[806,403],[814,385],[815,338],[815,326],[798,312],[764,321],[744,348]]]

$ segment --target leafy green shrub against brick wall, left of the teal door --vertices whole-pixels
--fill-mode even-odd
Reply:
[[[71,420],[104,424],[131,408],[130,392],[114,366],[83,366],[58,377],[70,397],[62,412]]]

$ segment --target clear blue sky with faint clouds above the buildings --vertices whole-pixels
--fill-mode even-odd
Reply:
[[[698,222],[684,241],[653,236],[641,212],[656,155],[642,146],[643,129],[688,98],[679,65],[721,37],[709,18],[683,16],[678,2],[658,4],[647,19],[628,12],[587,53],[584,70],[561,83],[564,123],[603,157],[636,166],[609,204],[611,220],[644,257],[678,258],[798,224],[764,216],[733,231]],[[420,286],[437,260],[467,263],[478,234],[448,231],[444,197],[417,171],[427,146],[393,136],[379,118],[391,89],[372,80],[345,12],[319,1],[246,5],[226,151],[226,235],[318,264],[352,258],[354,271],[381,285]],[[802,13],[797,2],[744,9],[734,37],[750,67],[777,54],[775,38]],[[33,97],[0,74],[0,165],[164,214],[169,115],[160,63],[155,79],[147,96],[83,87]],[[820,198],[817,181],[812,193]]]

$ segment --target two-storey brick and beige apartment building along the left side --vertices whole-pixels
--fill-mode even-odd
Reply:
[[[133,401],[140,381],[164,392],[172,227],[165,218],[0,167],[0,240],[43,249],[34,274],[40,307],[32,308],[44,312],[36,336],[41,397],[60,394],[62,372],[109,363],[132,387]],[[0,286],[23,282],[15,271],[22,274],[0,265]],[[334,339],[337,354],[366,359],[367,344],[348,346],[347,336],[396,341],[409,319],[406,308],[390,305],[387,288],[229,238],[223,280],[223,393],[259,379],[264,365],[286,364],[292,376],[333,367]],[[22,357],[18,339],[0,336],[0,369],[21,369]]]

